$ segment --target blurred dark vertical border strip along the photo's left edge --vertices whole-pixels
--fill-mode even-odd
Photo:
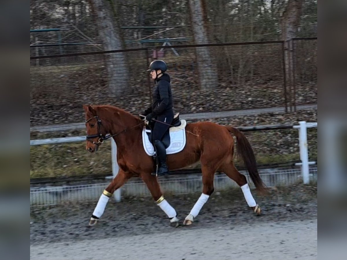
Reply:
[[[0,2],[0,250],[2,259],[28,259],[30,168],[29,1]],[[28,94],[27,94],[28,93]],[[29,107],[29,109],[28,109]],[[30,119],[30,118],[29,118]],[[27,139],[28,138],[28,139]],[[28,149],[28,150],[27,150]],[[30,232],[30,231],[29,231]]]

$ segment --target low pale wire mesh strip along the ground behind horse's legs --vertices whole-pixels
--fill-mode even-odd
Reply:
[[[254,188],[249,176],[243,173],[249,186]],[[301,171],[299,168],[293,169],[266,169],[260,170],[260,176],[267,187],[279,185],[291,185],[301,181]],[[310,168],[310,180],[317,181],[317,168]],[[194,192],[202,192],[202,176],[201,174],[175,177],[168,179],[160,179],[164,193],[171,194],[187,194]],[[99,199],[102,191],[109,183],[94,183],[84,185],[62,185],[59,187],[32,187],[30,189],[30,206],[47,206],[57,205],[65,201],[96,201]],[[214,177],[215,190],[226,190],[238,187],[236,182],[231,180],[225,174],[216,174]],[[122,186],[121,196],[151,196],[146,184],[143,181],[130,181]]]

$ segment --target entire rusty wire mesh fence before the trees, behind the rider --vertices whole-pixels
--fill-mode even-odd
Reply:
[[[295,105],[295,99],[299,104],[315,103],[316,40],[294,42],[297,98],[289,91],[294,87],[286,82],[283,41],[31,57],[31,125],[80,121],[84,103],[117,105],[131,113],[143,111],[150,105],[153,85],[145,70],[154,58],[168,64],[174,109],[180,113],[287,108]],[[310,53],[310,70],[301,53]]]

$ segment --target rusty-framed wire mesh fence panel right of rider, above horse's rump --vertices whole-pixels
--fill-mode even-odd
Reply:
[[[285,105],[282,42],[156,48],[182,113]]]

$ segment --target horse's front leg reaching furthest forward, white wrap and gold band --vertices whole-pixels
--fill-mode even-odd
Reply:
[[[93,226],[98,222],[98,219],[104,213],[107,202],[109,201],[113,192],[119,189],[128,179],[129,175],[126,172],[119,170],[115,179],[113,179],[112,182],[108,185],[108,187],[102,192],[98,204],[96,204],[96,207],[94,209],[93,215],[90,218],[90,226]]]

